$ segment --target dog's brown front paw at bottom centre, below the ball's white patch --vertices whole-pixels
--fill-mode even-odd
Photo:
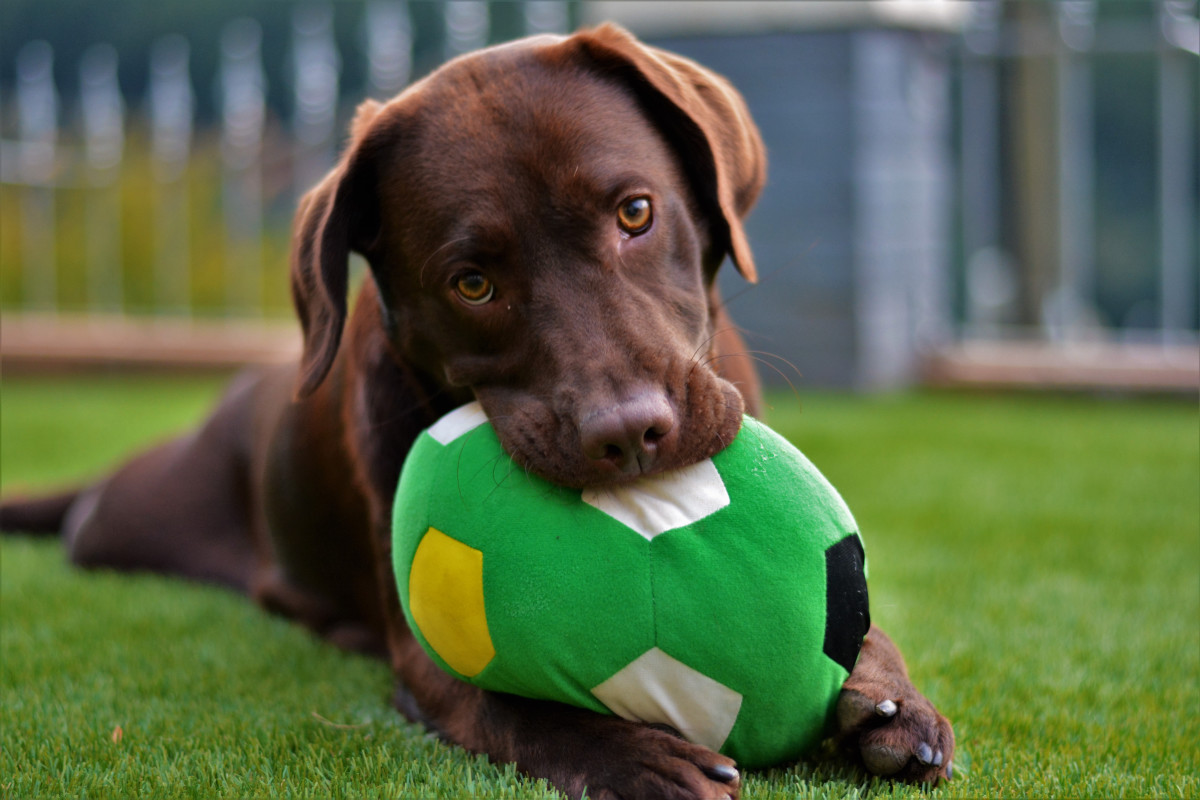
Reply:
[[[652,726],[630,723],[623,733],[623,752],[584,778],[588,798],[737,800],[742,775],[732,759]]]

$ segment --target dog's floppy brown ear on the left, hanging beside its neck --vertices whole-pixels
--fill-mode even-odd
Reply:
[[[292,234],[292,300],[304,329],[299,397],[325,379],[346,325],[350,251],[362,253],[379,230],[370,130],[380,104],[359,106],[337,167],[300,200]]]

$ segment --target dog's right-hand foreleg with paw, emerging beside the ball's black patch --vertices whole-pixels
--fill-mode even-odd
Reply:
[[[900,650],[874,625],[838,698],[838,739],[876,775],[937,783],[954,774],[954,729],[912,685]]]

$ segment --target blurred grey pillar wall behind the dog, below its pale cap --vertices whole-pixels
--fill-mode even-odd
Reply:
[[[778,356],[797,386],[905,385],[920,343],[940,335],[949,94],[931,41],[901,30],[654,40],[730,78],[762,131],[768,182],[748,221],[761,281],[748,288],[726,269],[721,288],[749,347]],[[785,383],[769,367],[763,377]]]

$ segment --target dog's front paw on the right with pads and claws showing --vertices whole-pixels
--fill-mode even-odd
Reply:
[[[954,776],[954,729],[912,685],[847,682],[838,698],[838,738],[868,771],[913,783]]]

